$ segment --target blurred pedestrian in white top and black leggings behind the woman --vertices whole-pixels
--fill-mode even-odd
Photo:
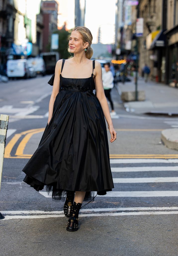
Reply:
[[[104,92],[105,92],[105,96],[106,98],[109,100],[110,104],[111,104],[111,116],[116,115],[116,112],[114,110],[114,105],[111,99],[111,89],[114,87],[114,77],[112,72],[110,71],[110,63],[107,62],[104,64],[104,68],[105,68],[105,72],[103,72],[102,74],[102,80],[103,80],[103,87],[104,87]]]

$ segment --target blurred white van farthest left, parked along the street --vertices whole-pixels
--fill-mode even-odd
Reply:
[[[10,77],[30,77],[28,62],[26,59],[8,60],[7,76]]]

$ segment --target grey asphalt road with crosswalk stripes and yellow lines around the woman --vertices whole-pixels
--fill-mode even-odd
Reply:
[[[178,126],[178,118],[127,112],[119,95],[124,85],[111,91],[117,113],[112,119],[117,131],[113,143],[106,126],[115,188],[81,209],[77,232],[66,231],[62,201],[22,181],[22,169],[47,124],[50,77],[0,83],[0,113],[9,115],[0,194],[5,216],[0,221],[0,255],[178,256],[178,151],[161,142],[161,131]],[[149,83],[156,88],[154,82],[146,86]],[[133,82],[130,86],[134,90]],[[170,97],[177,93],[176,88],[160,87]],[[155,90],[157,98],[159,90]]]

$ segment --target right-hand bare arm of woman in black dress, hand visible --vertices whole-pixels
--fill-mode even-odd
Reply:
[[[112,124],[112,119],[111,119],[111,115],[109,112],[109,106],[108,106],[108,102],[107,102],[104,88],[103,88],[101,64],[97,60],[95,60],[95,70],[96,70],[96,95],[101,104],[101,108],[103,110],[104,116],[108,123],[108,129],[111,134],[110,142],[113,142],[116,140],[117,132],[115,131],[113,124]]]

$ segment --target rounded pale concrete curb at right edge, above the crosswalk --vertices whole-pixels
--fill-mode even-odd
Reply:
[[[168,148],[178,150],[178,128],[163,130],[161,140]]]

